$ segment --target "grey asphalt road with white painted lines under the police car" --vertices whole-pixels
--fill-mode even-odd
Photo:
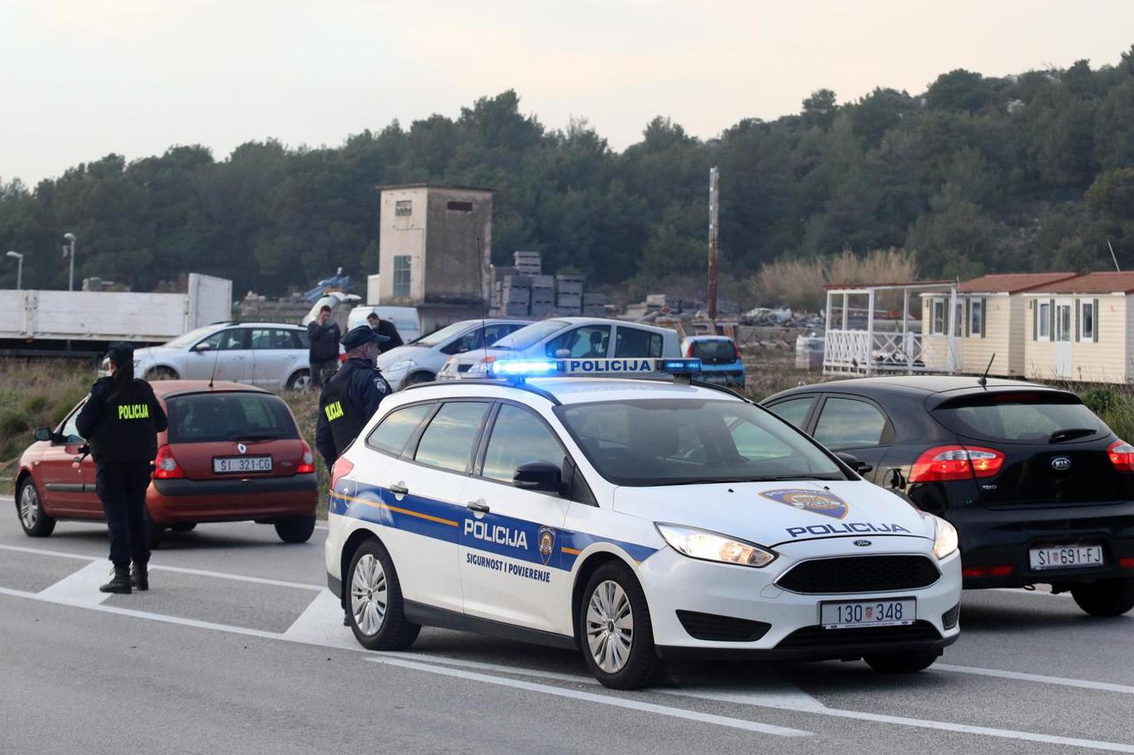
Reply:
[[[362,651],[322,538],[171,533],[151,591],[105,596],[105,529],[24,536],[0,499],[0,753],[1134,753],[1134,617],[967,592],[930,670],[688,664],[598,686],[577,654],[424,629]]]

